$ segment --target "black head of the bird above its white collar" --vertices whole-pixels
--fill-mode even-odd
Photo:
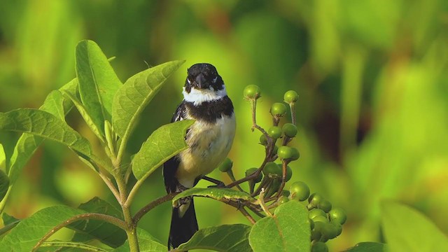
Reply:
[[[219,76],[215,66],[208,63],[198,63],[190,66],[187,70],[187,79],[185,82],[186,92],[190,92],[192,87],[196,89],[222,90],[224,88],[223,78]]]

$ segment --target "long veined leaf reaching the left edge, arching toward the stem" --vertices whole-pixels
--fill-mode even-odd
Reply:
[[[38,109],[17,109],[0,113],[0,130],[34,134],[57,141],[73,151],[90,156],[90,143],[51,113]]]

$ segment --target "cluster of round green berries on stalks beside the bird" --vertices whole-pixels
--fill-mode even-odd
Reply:
[[[342,232],[342,225],[346,221],[344,210],[332,208],[332,204],[317,193],[310,195],[309,187],[302,181],[294,182],[289,190],[283,190],[285,183],[293,176],[293,170],[288,164],[300,158],[297,148],[288,146],[298,132],[295,122],[297,92],[290,90],[283,96],[284,102],[290,108],[291,123],[280,125],[280,120],[286,116],[288,109],[285,104],[276,102],[269,110],[272,116],[272,126],[267,130],[257,125],[255,120],[256,104],[260,97],[261,91],[257,85],[248,85],[244,89],[244,98],[251,102],[252,106],[252,131],[257,129],[262,133],[260,144],[265,147],[265,160],[259,168],[247,169],[246,177],[238,181],[235,180],[232,173],[230,159],[226,159],[219,169],[221,172],[227,172],[232,179],[233,183],[230,184],[230,187],[237,186],[242,191],[239,184],[247,181],[251,196],[259,197],[262,202],[260,207],[263,211],[269,211],[269,209],[278,207],[289,200],[304,202],[309,210],[311,251],[328,251],[325,242],[334,239]],[[276,160],[280,160],[280,162],[276,162]],[[249,209],[251,208],[249,207]]]

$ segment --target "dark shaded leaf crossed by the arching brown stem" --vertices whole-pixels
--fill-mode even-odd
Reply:
[[[94,197],[92,200],[80,204],[79,209],[82,209],[88,213],[106,214],[123,219],[123,214],[120,210],[116,209],[116,207],[113,207],[109,204],[109,202],[106,202],[99,197]],[[72,241],[89,241],[92,239],[98,239],[102,243],[111,246],[112,248],[116,248],[122,245],[126,240],[125,230],[104,221],[77,221],[76,223],[69,225],[68,228],[76,230]]]

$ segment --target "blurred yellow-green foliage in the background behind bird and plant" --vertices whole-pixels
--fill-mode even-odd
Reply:
[[[293,179],[327,197],[349,216],[330,251],[381,241],[379,202],[396,199],[448,232],[448,2],[444,0],[57,1],[1,0],[0,111],[37,108],[75,76],[78,41],[96,41],[121,80],[171,59],[184,68],[155,97],[132,136],[144,139],[168,123],[181,101],[186,67],[214,64],[237,116],[230,153],[235,176],[262,161],[250,131],[248,84],[262,88],[258,121],[297,90],[299,134]],[[69,123],[92,133],[76,113]],[[10,157],[16,134],[0,135]],[[95,146],[95,144],[93,144]],[[77,206],[113,197],[90,169],[61,146],[46,143],[15,186],[6,212],[18,218],[53,204]],[[161,171],[136,198],[134,211],[165,194]],[[211,176],[225,179],[219,171]],[[201,182],[200,186],[207,186]],[[141,227],[167,239],[169,203]],[[217,215],[211,216],[213,211]],[[235,209],[197,200],[200,227],[246,223]],[[219,214],[219,215],[218,215]]]

